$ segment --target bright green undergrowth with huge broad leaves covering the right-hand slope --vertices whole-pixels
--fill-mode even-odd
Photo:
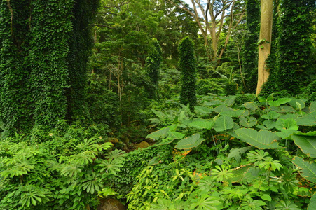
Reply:
[[[128,209],[315,208],[316,102],[235,101],[207,96],[194,113],[153,110],[151,148],[169,145],[172,161],[148,162]]]

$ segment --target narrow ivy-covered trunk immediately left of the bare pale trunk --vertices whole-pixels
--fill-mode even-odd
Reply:
[[[242,67],[245,74],[245,92],[256,92],[256,80],[258,80],[258,45],[259,22],[260,22],[260,2],[258,0],[247,0],[247,31],[244,38],[244,48],[242,50]]]

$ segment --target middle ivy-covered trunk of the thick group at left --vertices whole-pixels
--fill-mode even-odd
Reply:
[[[51,126],[66,116],[69,41],[74,1],[33,1],[27,60],[36,125]],[[47,14],[50,14],[49,16]]]

